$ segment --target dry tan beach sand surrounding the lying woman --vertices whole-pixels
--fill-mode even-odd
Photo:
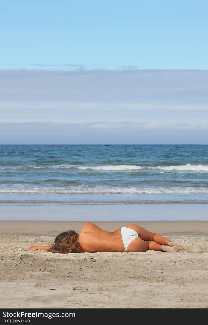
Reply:
[[[128,222],[95,222],[113,231]],[[179,241],[181,252],[52,254],[84,222],[0,221],[1,308],[207,308],[208,221],[134,222]]]

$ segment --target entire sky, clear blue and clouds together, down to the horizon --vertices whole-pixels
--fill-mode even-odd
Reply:
[[[0,143],[207,143],[207,9],[2,1]]]

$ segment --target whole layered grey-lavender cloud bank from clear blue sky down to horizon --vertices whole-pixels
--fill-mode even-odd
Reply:
[[[207,70],[82,67],[0,70],[0,122],[17,123],[1,124],[1,136],[10,143],[24,143],[24,136],[30,143],[41,141],[40,134],[45,143],[204,143],[207,138]],[[29,123],[34,121],[45,123]]]

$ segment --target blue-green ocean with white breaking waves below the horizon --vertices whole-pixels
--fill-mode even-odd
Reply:
[[[0,145],[0,202],[208,203],[208,145]]]

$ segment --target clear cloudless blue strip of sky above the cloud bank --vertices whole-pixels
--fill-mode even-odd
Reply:
[[[0,12],[2,69],[208,69],[206,0],[4,0]]]

